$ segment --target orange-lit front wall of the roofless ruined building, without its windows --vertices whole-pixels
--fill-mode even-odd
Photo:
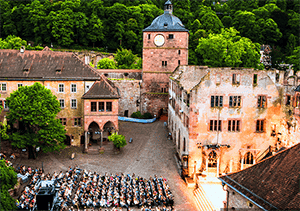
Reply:
[[[279,128],[285,114],[278,101],[279,92],[266,71],[253,69],[232,70],[214,68],[207,74],[191,94],[189,163],[197,162],[197,169],[205,173],[209,149],[198,149],[197,143],[204,145],[228,145],[216,149],[221,173],[240,170],[241,149],[252,150],[254,158],[269,145],[276,144],[272,137],[272,127]],[[240,74],[240,84],[232,84],[232,74]],[[253,85],[253,75],[257,74],[257,85]],[[218,84],[218,77],[221,78]],[[267,98],[266,108],[257,108],[258,95]],[[223,107],[211,108],[211,96],[223,96]],[[229,108],[229,97],[241,96],[241,107]],[[210,131],[210,120],[222,120],[222,131]],[[256,132],[256,120],[265,120],[265,132]],[[240,132],[228,131],[228,120],[240,120]],[[247,150],[246,150],[247,151]],[[190,172],[192,166],[189,167]]]

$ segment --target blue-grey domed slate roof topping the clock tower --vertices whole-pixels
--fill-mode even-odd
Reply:
[[[164,14],[155,18],[151,25],[143,30],[145,31],[186,31],[188,32],[179,18],[172,14],[172,3],[168,0],[165,3]]]

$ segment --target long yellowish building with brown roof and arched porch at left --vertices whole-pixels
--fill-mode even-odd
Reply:
[[[10,93],[35,82],[50,89],[60,102],[57,118],[66,128],[67,145],[83,144],[88,132],[92,139],[99,138],[91,131],[105,138],[106,129],[118,129],[118,88],[74,53],[47,47],[43,51],[0,50],[2,118],[9,111],[5,99]],[[95,113],[91,110],[94,102],[99,106]]]

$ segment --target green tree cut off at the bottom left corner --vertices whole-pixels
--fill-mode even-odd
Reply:
[[[17,173],[13,167],[8,166],[6,160],[0,160],[0,210],[16,210],[15,200],[9,195],[8,190],[17,184]]]

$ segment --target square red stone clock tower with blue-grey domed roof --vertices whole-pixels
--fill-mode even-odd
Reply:
[[[143,112],[167,112],[169,76],[179,65],[188,64],[189,32],[173,15],[170,0],[164,14],[143,30]]]

